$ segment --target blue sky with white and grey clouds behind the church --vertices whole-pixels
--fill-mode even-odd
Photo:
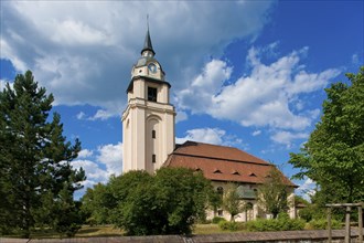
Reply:
[[[86,187],[121,173],[120,115],[147,31],[176,141],[227,145],[291,177],[324,88],[363,65],[363,1],[1,1],[0,87],[31,70],[79,138]],[[310,179],[295,181],[312,188]],[[82,192],[78,192],[81,196]]]

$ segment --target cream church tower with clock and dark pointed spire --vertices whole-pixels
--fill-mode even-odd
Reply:
[[[174,149],[174,107],[149,28],[141,56],[132,66],[128,106],[122,113],[122,172],[159,169]]]

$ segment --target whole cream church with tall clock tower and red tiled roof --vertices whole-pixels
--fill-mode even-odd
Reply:
[[[265,218],[257,204],[256,191],[274,165],[233,147],[197,141],[175,145],[176,113],[170,103],[171,85],[154,55],[148,30],[141,56],[131,70],[131,81],[127,88],[128,106],[121,118],[122,172],[146,170],[153,173],[161,167],[184,167],[202,171],[221,193],[229,182],[238,184],[240,199],[250,208],[240,213],[237,221]],[[289,198],[293,200],[297,186],[283,175],[282,178],[289,187]],[[290,208],[289,214],[295,218],[295,207]],[[229,219],[229,214],[223,210],[210,216],[214,215]]]

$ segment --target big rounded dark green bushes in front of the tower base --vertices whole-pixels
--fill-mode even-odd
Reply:
[[[161,168],[154,176],[129,171],[114,177],[106,186],[88,190],[82,201],[90,219],[113,222],[129,235],[190,234],[213,197],[202,173]]]

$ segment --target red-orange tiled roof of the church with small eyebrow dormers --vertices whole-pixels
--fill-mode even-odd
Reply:
[[[237,148],[186,141],[176,146],[164,166],[201,170],[213,181],[263,183],[274,165]],[[283,175],[285,182],[296,187]]]

